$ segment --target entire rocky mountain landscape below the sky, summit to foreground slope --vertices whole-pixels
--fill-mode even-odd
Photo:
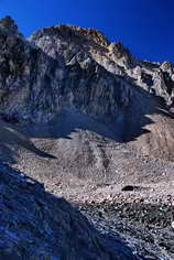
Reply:
[[[0,50],[2,259],[174,259],[174,65],[11,17]]]

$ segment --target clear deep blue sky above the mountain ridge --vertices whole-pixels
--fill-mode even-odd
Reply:
[[[140,58],[174,63],[174,0],[0,0],[4,15],[25,36],[61,23],[90,26]]]

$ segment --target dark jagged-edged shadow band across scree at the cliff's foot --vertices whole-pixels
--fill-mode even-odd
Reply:
[[[132,86],[137,95],[122,109],[122,113],[108,124],[98,121],[77,109],[64,108],[48,123],[20,126],[1,121],[0,158],[3,162],[18,162],[18,148],[23,148],[37,156],[55,159],[37,149],[31,139],[72,139],[70,134],[79,131],[95,132],[116,142],[130,142],[149,133],[146,126],[154,123],[146,115],[163,115],[172,118],[167,111],[157,107],[155,99],[145,90]],[[142,106],[142,101],[144,105]]]

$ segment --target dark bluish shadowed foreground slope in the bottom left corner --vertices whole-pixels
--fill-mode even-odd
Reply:
[[[135,260],[119,239],[100,235],[65,199],[0,164],[0,259]]]

